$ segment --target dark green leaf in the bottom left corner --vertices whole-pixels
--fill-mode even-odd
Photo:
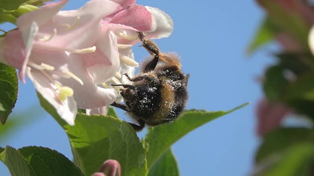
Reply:
[[[84,176],[63,154],[44,147],[7,146],[0,158],[12,176]]]

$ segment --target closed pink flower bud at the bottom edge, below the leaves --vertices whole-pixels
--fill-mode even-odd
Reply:
[[[121,166],[116,160],[109,159],[104,162],[99,172],[92,176],[121,176]]]

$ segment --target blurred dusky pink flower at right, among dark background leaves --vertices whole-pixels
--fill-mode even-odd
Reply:
[[[275,129],[290,112],[291,110],[282,103],[261,100],[257,106],[257,134],[262,136]]]

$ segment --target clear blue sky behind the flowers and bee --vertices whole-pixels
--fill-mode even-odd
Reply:
[[[65,9],[76,9],[84,2],[70,0]],[[241,110],[190,132],[173,145],[181,175],[247,175],[259,144],[255,134],[255,107],[262,97],[262,89],[256,78],[272,62],[265,49],[251,57],[245,52],[262,20],[262,9],[254,0],[199,0],[194,3],[138,0],[137,3],[157,7],[174,21],[173,34],[156,43],[162,51],[176,51],[181,56],[183,71],[190,73],[187,109],[229,110],[251,102]],[[9,27],[0,25],[4,30]],[[137,61],[148,55],[141,47],[135,46],[133,51]],[[39,105],[31,82],[26,82],[26,85],[20,84],[16,112],[32,104]],[[0,141],[0,146],[45,146],[72,158],[65,132],[49,114],[39,110],[39,114],[43,113],[31,125]],[[119,114],[127,119],[123,112],[119,111]],[[139,137],[144,133],[140,132]],[[0,173],[9,176],[2,163]]]

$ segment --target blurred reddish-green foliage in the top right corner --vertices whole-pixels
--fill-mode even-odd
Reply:
[[[306,0],[257,0],[267,11],[269,29],[285,51],[302,52],[314,10]]]

